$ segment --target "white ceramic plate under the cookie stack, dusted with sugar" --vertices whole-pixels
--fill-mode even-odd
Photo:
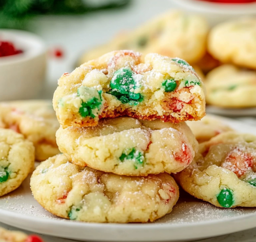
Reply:
[[[239,132],[256,127],[223,119]],[[143,202],[143,201],[142,201]],[[256,208],[223,209],[181,191],[171,214],[147,224],[99,224],[69,221],[51,215],[33,199],[27,178],[19,189],[0,198],[0,221],[41,234],[81,241],[191,241],[256,226]]]

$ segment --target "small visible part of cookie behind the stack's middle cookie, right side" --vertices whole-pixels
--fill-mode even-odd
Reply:
[[[231,127],[210,115],[203,117],[199,121],[187,121],[187,125],[199,143],[208,141],[220,133],[232,131]]]

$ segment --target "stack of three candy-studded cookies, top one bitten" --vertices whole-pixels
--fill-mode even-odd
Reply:
[[[57,216],[147,222],[179,197],[169,175],[193,160],[184,121],[205,115],[203,83],[179,58],[114,51],[59,79],[53,107],[63,153],[32,175],[35,199]]]

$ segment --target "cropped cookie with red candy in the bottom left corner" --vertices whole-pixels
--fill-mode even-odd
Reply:
[[[20,231],[10,231],[0,227],[0,242],[43,242],[43,240],[36,236],[27,236]]]

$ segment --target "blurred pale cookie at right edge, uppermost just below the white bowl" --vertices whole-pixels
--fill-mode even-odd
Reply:
[[[256,69],[256,18],[221,23],[211,30],[208,51],[223,63]]]

